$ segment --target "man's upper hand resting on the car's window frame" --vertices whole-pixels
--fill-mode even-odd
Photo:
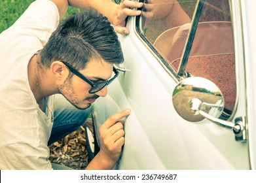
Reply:
[[[128,34],[130,30],[125,27],[125,20],[127,16],[138,16],[141,14],[141,10],[132,10],[131,8],[141,8],[143,3],[137,3],[136,1],[122,0],[116,7],[115,14],[113,16],[113,25],[115,31],[120,34]]]

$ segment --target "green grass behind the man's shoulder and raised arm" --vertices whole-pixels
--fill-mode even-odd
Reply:
[[[0,0],[0,33],[9,28],[34,0]],[[67,14],[77,11],[69,7]]]

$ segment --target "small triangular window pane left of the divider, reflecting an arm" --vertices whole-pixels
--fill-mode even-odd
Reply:
[[[140,31],[169,63],[181,58],[195,6],[196,0],[144,1]]]

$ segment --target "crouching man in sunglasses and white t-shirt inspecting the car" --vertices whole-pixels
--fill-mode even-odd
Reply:
[[[68,5],[96,8],[119,33],[129,31],[126,16],[141,13],[128,8],[141,7],[132,1],[38,0],[1,33],[0,169],[55,168],[47,145],[75,131],[118,75],[113,65],[122,63],[122,51],[107,18],[88,9],[56,29]],[[120,119],[129,114],[122,110],[101,126],[100,152],[86,169],[115,165],[124,144]]]

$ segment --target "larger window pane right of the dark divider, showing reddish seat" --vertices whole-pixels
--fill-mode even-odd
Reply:
[[[233,44],[229,0],[205,0],[185,72],[217,84],[229,114],[236,101]]]

